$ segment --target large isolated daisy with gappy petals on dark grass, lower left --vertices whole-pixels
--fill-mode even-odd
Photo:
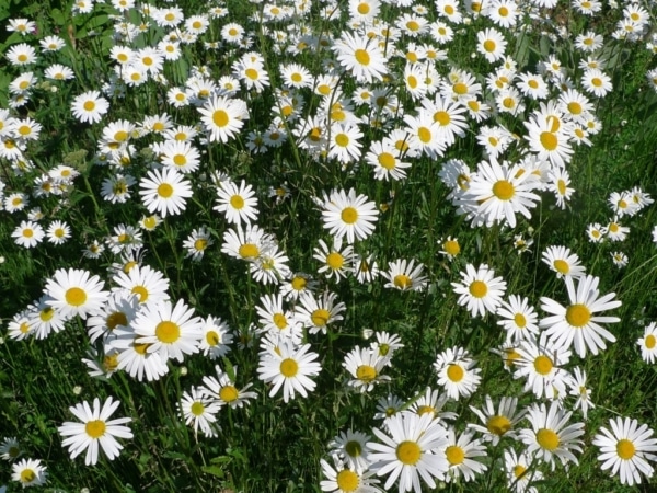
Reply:
[[[65,437],[61,445],[69,448],[71,459],[74,459],[84,450],[87,456],[84,463],[94,466],[99,461],[99,448],[110,460],[118,457],[123,445],[118,438],[132,438],[132,432],[125,423],[132,421],[131,417],[118,417],[110,420],[116,411],[120,401],[114,401],[112,397],[102,404],[99,398],[93,400],[93,409],[84,401],[69,408],[69,411],[81,421],[81,423],[67,421],[57,429]]]

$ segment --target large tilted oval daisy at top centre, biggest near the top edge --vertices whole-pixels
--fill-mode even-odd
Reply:
[[[337,61],[353,74],[357,82],[371,83],[372,80],[382,80],[388,73],[387,59],[379,45],[367,37],[356,36],[345,32],[333,46]]]

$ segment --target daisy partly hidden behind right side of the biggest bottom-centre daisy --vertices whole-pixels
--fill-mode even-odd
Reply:
[[[449,470],[445,474],[448,483],[458,482],[461,475],[465,482],[473,481],[476,474],[488,469],[482,462],[473,460],[474,457],[487,456],[487,451],[486,447],[470,432],[463,432],[457,438],[454,429],[448,428],[445,456],[449,462]]]

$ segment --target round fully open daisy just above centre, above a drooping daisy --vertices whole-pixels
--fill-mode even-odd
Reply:
[[[333,192],[323,209],[324,229],[334,238],[346,236],[349,244],[371,236],[379,216],[377,204],[368,200],[366,195],[357,196],[354,188],[346,193],[344,190]]]

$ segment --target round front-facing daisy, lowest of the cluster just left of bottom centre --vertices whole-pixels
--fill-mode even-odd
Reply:
[[[308,397],[308,392],[312,392],[316,386],[310,377],[315,377],[322,370],[316,362],[319,357],[319,354],[310,351],[310,344],[295,347],[291,341],[283,341],[261,356],[258,378],[273,385],[269,391],[272,398],[283,388],[285,403],[295,399],[296,393]]]

